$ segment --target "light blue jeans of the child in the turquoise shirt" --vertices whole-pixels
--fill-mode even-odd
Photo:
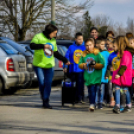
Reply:
[[[103,103],[105,93],[105,83],[101,83],[100,88],[96,91],[96,104]]]

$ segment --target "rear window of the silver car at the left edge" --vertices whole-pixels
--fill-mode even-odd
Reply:
[[[18,54],[18,51],[15,50],[12,46],[10,46],[7,43],[0,43],[0,47],[8,54],[8,55],[13,55],[13,54]]]

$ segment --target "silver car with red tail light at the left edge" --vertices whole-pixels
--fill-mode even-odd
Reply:
[[[0,40],[0,93],[24,86],[30,81],[26,59],[16,49]]]

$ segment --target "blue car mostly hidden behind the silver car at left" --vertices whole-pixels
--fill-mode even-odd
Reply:
[[[32,84],[32,80],[34,79],[34,70],[33,70],[33,66],[32,66],[32,61],[33,61],[32,54],[29,51],[27,51],[24,47],[20,46],[18,43],[11,40],[10,38],[0,37],[0,39],[3,41],[6,41],[9,45],[11,45],[13,48],[15,48],[17,51],[19,51],[20,53],[22,53],[25,56],[27,71],[29,71],[29,73],[30,73],[30,81],[29,81],[29,83],[27,83],[27,85],[25,85],[24,88],[30,87]]]

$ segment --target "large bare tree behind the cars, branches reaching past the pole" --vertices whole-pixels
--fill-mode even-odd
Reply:
[[[65,4],[65,1],[67,2],[67,0],[56,0],[56,18],[61,29],[69,26],[70,18],[73,20],[74,14],[84,10],[88,5],[84,3],[74,7]],[[3,0],[0,3],[0,13],[0,32],[11,33],[16,41],[24,40],[27,32],[41,31],[45,24],[50,22],[51,1]],[[64,23],[61,24],[60,19],[64,20]]]

